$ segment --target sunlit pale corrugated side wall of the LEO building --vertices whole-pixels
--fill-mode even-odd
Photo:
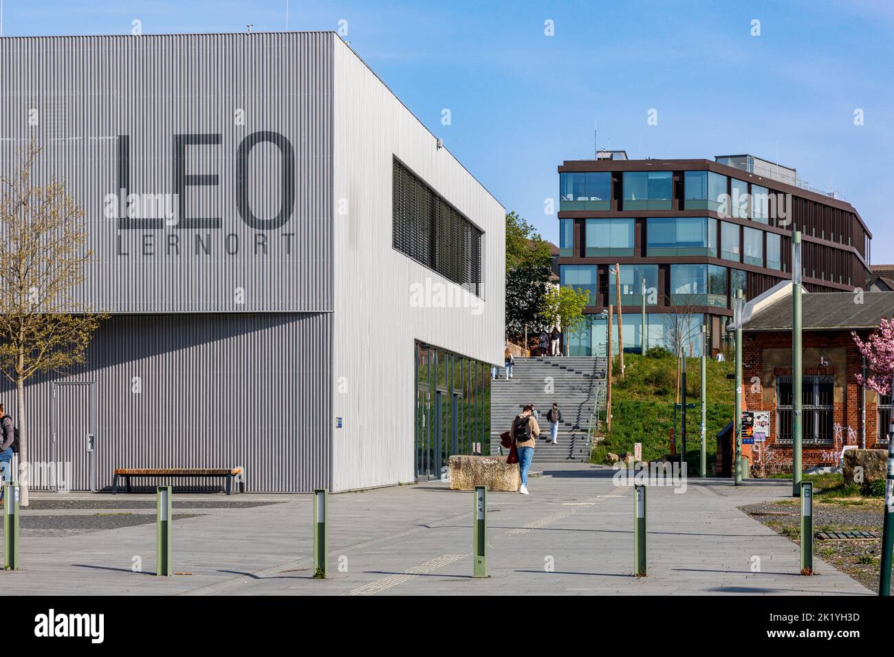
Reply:
[[[502,364],[505,211],[334,46],[333,490],[413,481],[415,342]],[[392,248],[394,158],[484,232],[480,297]]]

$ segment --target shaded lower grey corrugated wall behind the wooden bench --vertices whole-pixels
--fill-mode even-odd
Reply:
[[[99,489],[115,467],[243,466],[249,491],[328,487],[331,317],[114,316],[90,344],[88,366],[27,387],[30,460],[71,463],[73,489],[89,490],[92,428]],[[92,402],[75,381],[93,383]],[[14,416],[5,379],[0,399]]]

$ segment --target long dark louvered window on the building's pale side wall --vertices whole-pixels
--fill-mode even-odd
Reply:
[[[480,297],[482,232],[397,160],[392,184],[392,246]]]

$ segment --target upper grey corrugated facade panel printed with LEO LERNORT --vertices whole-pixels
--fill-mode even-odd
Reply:
[[[38,180],[63,178],[83,206],[97,310],[331,310],[332,45],[300,32],[0,38],[0,169],[35,139]],[[180,223],[128,218],[121,185],[181,190]]]

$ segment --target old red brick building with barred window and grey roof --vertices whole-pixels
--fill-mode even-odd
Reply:
[[[852,332],[865,339],[894,314],[894,292],[805,292],[802,308],[804,467],[839,465],[847,446],[887,449],[890,396],[857,383],[863,357]],[[789,282],[749,302],[743,314],[744,408],[770,412],[766,440],[742,446],[754,476],[791,472],[791,316]]]

